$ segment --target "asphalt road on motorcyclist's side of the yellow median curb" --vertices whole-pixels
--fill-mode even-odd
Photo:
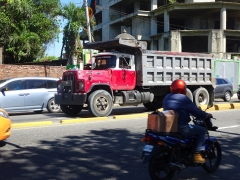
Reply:
[[[240,111],[213,115],[214,125],[220,128],[211,135],[223,150],[219,170],[208,174],[201,167],[188,168],[174,179],[239,179]],[[146,118],[126,118],[13,129],[6,146],[0,148],[0,178],[149,180],[147,165],[140,159],[146,124]]]

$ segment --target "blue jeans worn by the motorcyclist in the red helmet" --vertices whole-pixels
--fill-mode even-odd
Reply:
[[[184,137],[196,136],[195,151],[205,150],[206,129],[204,127],[193,124],[180,125],[178,132]]]

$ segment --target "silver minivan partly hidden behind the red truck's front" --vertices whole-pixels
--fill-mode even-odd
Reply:
[[[0,80],[0,108],[10,112],[59,112],[54,94],[58,78],[21,77]]]

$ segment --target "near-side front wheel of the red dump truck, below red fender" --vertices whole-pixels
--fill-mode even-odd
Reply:
[[[97,90],[88,98],[88,110],[94,116],[108,116],[112,112],[112,108],[112,96],[105,90]]]

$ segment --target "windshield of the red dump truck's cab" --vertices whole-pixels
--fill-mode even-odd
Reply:
[[[94,69],[107,69],[116,67],[117,57],[114,55],[95,56],[96,67]]]

